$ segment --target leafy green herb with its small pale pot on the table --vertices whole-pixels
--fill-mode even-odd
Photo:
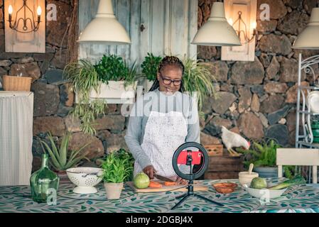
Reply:
[[[131,157],[114,151],[107,155],[102,164],[102,179],[107,199],[119,199],[125,180],[131,177],[133,165]]]

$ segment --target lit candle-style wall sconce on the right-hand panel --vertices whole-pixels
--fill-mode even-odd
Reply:
[[[256,38],[256,36],[258,35],[258,31],[256,29],[257,28],[256,21],[254,21],[251,25],[252,32],[249,33],[249,31],[247,31],[247,24],[244,23],[244,20],[242,19],[242,11],[238,11],[238,18],[236,21],[233,22],[232,18],[229,18],[228,23],[234,28],[234,30],[236,31],[239,37],[240,42],[243,45],[252,42],[252,40],[254,40],[254,38]],[[238,24],[238,27],[237,27],[237,24]]]

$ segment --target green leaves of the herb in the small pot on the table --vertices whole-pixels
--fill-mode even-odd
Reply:
[[[131,157],[123,150],[119,150],[107,155],[102,163],[101,177],[104,182],[121,183],[131,177],[132,171]]]

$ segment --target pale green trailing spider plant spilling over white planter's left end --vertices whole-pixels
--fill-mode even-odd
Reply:
[[[81,121],[81,130],[84,133],[94,134],[94,121],[97,116],[104,114],[107,104],[103,99],[90,100],[90,91],[94,89],[98,92],[99,76],[94,65],[88,60],[71,62],[65,67],[64,77],[72,84],[78,95],[77,104],[70,112],[73,118]]]

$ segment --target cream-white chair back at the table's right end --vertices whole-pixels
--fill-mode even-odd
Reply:
[[[276,164],[278,165],[278,177],[283,177],[283,165],[312,166],[313,184],[318,183],[319,149],[278,148]]]

